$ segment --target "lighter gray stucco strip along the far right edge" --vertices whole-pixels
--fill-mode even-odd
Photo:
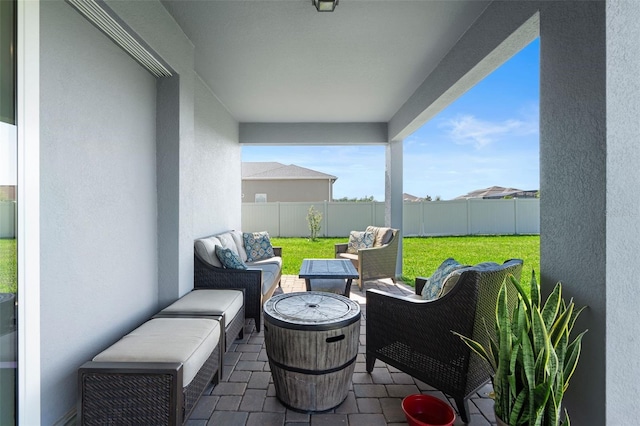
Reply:
[[[607,273],[601,303],[606,303],[606,420],[623,425],[637,423],[640,394],[640,2],[609,1],[606,16]]]

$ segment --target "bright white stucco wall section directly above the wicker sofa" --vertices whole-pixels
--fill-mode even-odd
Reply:
[[[242,229],[241,161],[238,123],[196,78],[191,175],[194,238]]]

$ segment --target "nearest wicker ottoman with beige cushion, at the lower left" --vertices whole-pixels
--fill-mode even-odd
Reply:
[[[222,364],[222,327],[155,318],[78,371],[78,423],[180,425]]]

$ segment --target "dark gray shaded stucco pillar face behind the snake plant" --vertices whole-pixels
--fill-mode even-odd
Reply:
[[[589,306],[576,325],[576,329],[588,327],[589,333],[565,395],[572,423],[578,425],[603,425],[606,420],[605,64],[604,2],[544,4],[540,268],[543,291],[548,293],[561,281],[565,294],[578,306]]]

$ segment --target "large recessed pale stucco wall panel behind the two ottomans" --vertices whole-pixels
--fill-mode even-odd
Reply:
[[[61,1],[41,3],[42,424],[76,371],[157,306],[155,79]]]

